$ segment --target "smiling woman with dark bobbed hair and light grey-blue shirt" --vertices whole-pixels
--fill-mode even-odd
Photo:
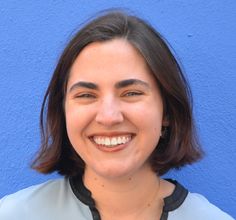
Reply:
[[[160,178],[202,151],[179,64],[135,16],[108,12],[74,36],[47,89],[41,131],[33,168],[65,178],[6,196],[0,219],[232,219]]]

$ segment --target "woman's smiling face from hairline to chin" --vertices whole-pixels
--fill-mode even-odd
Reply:
[[[127,41],[94,42],[81,51],[68,80],[65,116],[85,172],[117,178],[149,169],[163,103],[143,57]]]

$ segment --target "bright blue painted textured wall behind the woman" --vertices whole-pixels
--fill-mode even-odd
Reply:
[[[158,28],[192,86],[206,157],[167,176],[236,217],[235,0],[1,1],[0,197],[56,177],[29,169],[43,95],[79,24],[110,7],[129,8]]]

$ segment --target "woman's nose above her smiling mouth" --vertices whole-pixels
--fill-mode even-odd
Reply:
[[[103,100],[98,106],[95,120],[104,126],[113,126],[121,123],[124,118],[118,101],[112,98]]]

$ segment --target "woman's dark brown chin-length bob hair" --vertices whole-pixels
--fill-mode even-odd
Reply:
[[[82,175],[84,161],[73,149],[66,131],[65,88],[70,68],[81,50],[96,41],[124,38],[139,50],[161,90],[169,125],[150,157],[159,175],[191,164],[202,156],[192,117],[192,96],[182,70],[163,37],[147,22],[122,11],[110,11],[85,25],[69,42],[44,96],[41,148],[32,167],[42,173]]]

